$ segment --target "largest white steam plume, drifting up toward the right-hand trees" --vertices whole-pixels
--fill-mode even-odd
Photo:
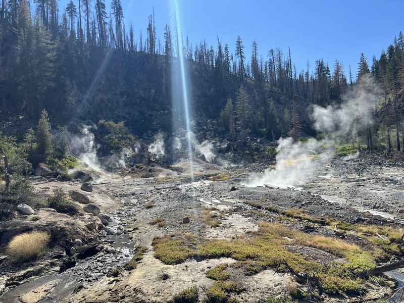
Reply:
[[[342,104],[327,108],[314,106],[311,119],[317,131],[326,133],[325,139],[310,139],[301,143],[293,142],[292,138],[281,138],[277,147],[275,169],[267,169],[262,175],[251,176],[241,184],[254,187],[269,184],[285,188],[324,174],[324,164],[334,155],[334,147],[353,142],[360,131],[373,124],[373,109],[379,92],[372,78],[363,77],[350,94],[354,97],[346,96]],[[317,154],[320,150],[321,154]]]

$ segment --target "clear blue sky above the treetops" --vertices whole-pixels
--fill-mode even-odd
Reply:
[[[77,5],[78,0],[73,0]],[[146,32],[147,17],[153,7],[156,28],[163,43],[166,23],[172,22],[173,0],[121,0],[125,24],[132,21],[137,36]],[[62,11],[67,0],[59,2]],[[107,11],[110,0],[106,0]],[[393,42],[399,31],[404,31],[402,0],[178,0],[184,37],[192,45],[204,38],[208,44],[229,44],[231,52],[237,36],[250,57],[251,43],[257,40],[259,53],[266,60],[271,48],[280,47],[287,54],[291,49],[297,71],[311,69],[323,58],[330,68],[335,59],[344,64],[345,73],[351,65],[354,75],[363,52],[371,64],[372,57]]]

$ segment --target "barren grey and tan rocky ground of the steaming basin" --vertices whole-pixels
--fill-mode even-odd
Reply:
[[[324,174],[306,182],[301,190],[240,185],[251,173],[267,168],[268,164],[264,163],[226,170],[207,166],[195,178],[170,174],[104,179],[93,182],[91,193],[80,191],[78,181],[50,182],[46,188],[37,185],[37,191],[50,191],[54,187],[62,187],[66,192],[78,191],[111,219],[103,224],[98,216],[84,211],[82,216],[56,217],[62,225],[70,226],[72,237],[81,240],[83,245],[87,241],[92,248],[84,250],[81,257],[79,251],[68,256],[66,248],[62,250],[65,244],[56,242],[45,256],[33,262],[16,264],[11,257],[6,258],[0,264],[3,293],[0,301],[167,302],[192,286],[196,286],[200,300],[209,300],[210,287],[218,285],[220,280],[208,273],[223,264],[229,280],[238,285],[234,291],[225,293],[228,301],[265,301],[290,292],[297,295],[295,289],[310,294],[312,285],[298,281],[296,275],[284,268],[266,265],[258,269],[262,259],[252,252],[249,257],[231,252],[206,257],[198,250],[183,260],[175,259],[178,262],[167,262],[158,255],[156,242],[167,236],[168,240],[181,240],[188,252],[200,249],[197,247],[205,243],[219,245],[222,240],[244,245],[263,236],[263,228],[275,226],[277,230],[285,228],[287,233],[283,230],[281,237],[273,241],[283,243],[293,258],[299,256],[320,264],[348,263],[343,255],[314,245],[313,241],[315,237],[323,237],[330,243],[357,245],[364,251],[376,248],[382,251],[380,241],[387,247],[388,234],[372,233],[374,228],[398,232],[404,222],[402,165],[399,161],[388,161],[391,160],[366,155],[350,160],[334,159],[323,167]],[[56,218],[48,218],[43,210],[35,211],[41,220],[33,223],[30,216],[21,216],[11,224],[19,232],[58,226],[53,225]],[[75,227],[73,223],[77,222],[82,225],[94,222],[94,229],[80,229],[80,224],[80,228]],[[6,244],[11,227],[1,228],[2,243]],[[190,238],[197,244],[189,244]],[[81,249],[80,245],[77,247]],[[142,247],[141,256],[137,258],[139,247]],[[182,254],[185,248],[176,253]],[[6,254],[4,249],[2,254]],[[165,254],[172,255],[170,247]],[[375,266],[400,259],[394,251],[386,250],[383,254],[384,257],[375,259]],[[387,257],[391,260],[386,260]],[[254,258],[261,261],[256,262]],[[247,264],[249,260],[256,263]],[[255,270],[247,271],[247,265]],[[71,267],[61,271],[63,266]],[[330,295],[316,291],[316,296],[307,298],[341,302],[377,300],[393,293],[394,285],[386,279],[383,281],[366,280],[358,292],[340,291]]]

